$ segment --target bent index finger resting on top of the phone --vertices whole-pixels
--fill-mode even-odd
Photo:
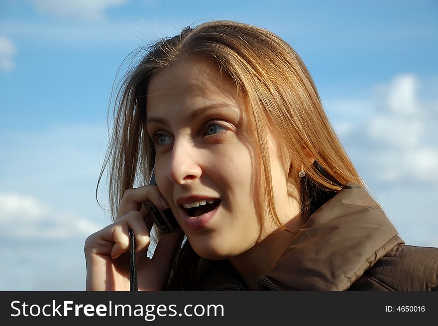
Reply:
[[[142,186],[127,189],[120,201],[117,218],[125,216],[131,211],[140,211],[144,202],[151,201],[156,207],[165,210],[169,204],[161,195],[157,186]]]

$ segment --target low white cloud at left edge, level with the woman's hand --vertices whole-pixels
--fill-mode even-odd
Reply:
[[[58,211],[30,196],[0,193],[0,236],[12,240],[66,240],[86,237],[97,225],[68,211]]]

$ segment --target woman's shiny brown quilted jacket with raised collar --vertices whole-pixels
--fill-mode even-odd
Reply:
[[[195,290],[248,290],[228,260],[201,259]],[[261,291],[437,291],[438,248],[405,245],[379,205],[347,184],[303,225]]]

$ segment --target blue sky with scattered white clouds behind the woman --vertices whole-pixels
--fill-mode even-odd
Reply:
[[[437,1],[0,1],[0,290],[83,290],[111,86],[126,55],[231,19],[289,42],[409,244],[438,246]],[[100,193],[105,203],[105,194]]]

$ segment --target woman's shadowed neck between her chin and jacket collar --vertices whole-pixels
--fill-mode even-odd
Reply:
[[[285,224],[289,231],[276,229],[250,249],[229,258],[250,290],[256,290],[257,277],[266,275],[275,267],[301,225],[300,215],[293,217]]]

